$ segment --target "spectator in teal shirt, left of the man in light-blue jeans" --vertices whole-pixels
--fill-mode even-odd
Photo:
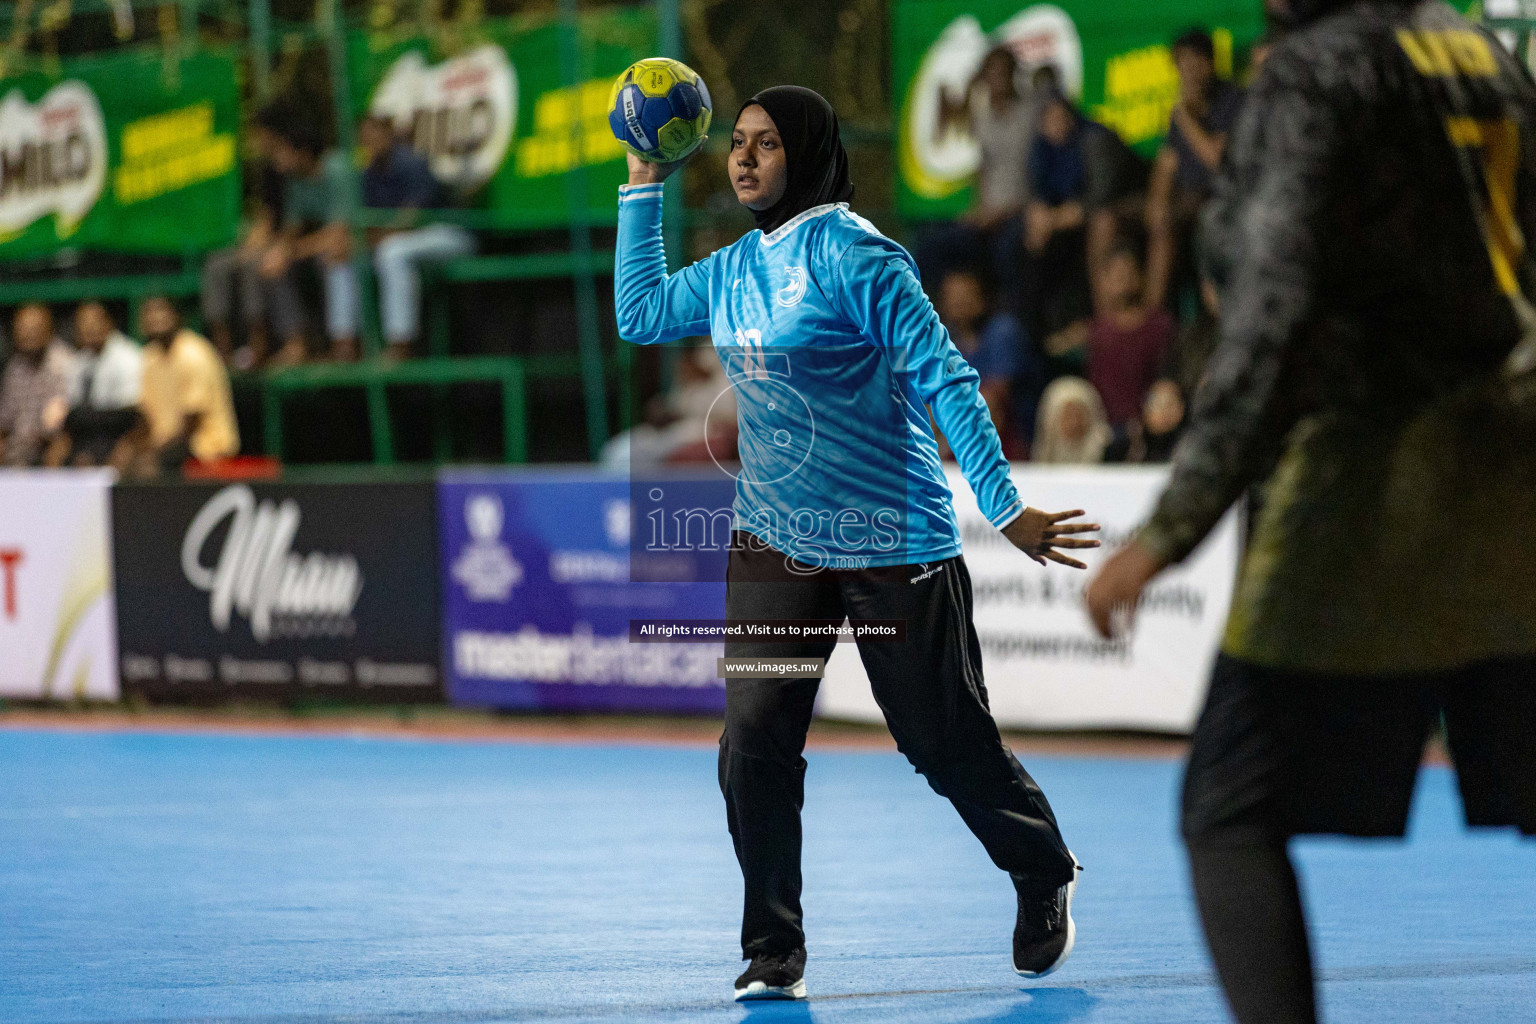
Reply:
[[[283,175],[283,227],[276,239],[261,258],[261,276],[269,282],[281,282],[300,267],[313,267],[323,278],[327,270],[346,264],[352,243],[347,229],[350,209],[352,163],[338,149],[326,149],[324,138],[313,118],[296,114],[276,114],[272,118],[272,166]],[[327,279],[329,284],[329,279]],[[278,365],[293,365],[307,358],[303,330],[303,310],[298,309],[298,292],[280,287],[275,295],[284,302],[293,301],[293,316],[300,329],[284,338],[281,352],[275,356]],[[350,293],[336,295],[326,289],[326,330],[332,339],[333,353],[339,358],[355,358],[346,348],[346,339],[355,336],[347,302]],[[280,309],[281,316],[280,316]],[[292,324],[280,325],[290,312],[273,306],[273,327],[292,330]],[[341,339],[339,345],[336,339]],[[339,350],[338,350],[339,348]]]

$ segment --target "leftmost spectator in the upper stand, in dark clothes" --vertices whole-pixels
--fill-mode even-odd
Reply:
[[[266,362],[269,330],[290,352],[304,350],[304,307],[290,267],[273,278],[263,275],[267,250],[278,241],[283,227],[283,192],[286,178],[278,172],[272,154],[278,143],[278,127],[300,115],[286,104],[269,106],[257,115],[255,140],[261,157],[255,169],[257,193],[252,197],[240,243],[212,252],[203,261],[203,322],[224,359],[241,370]],[[238,327],[244,344],[235,348]]]

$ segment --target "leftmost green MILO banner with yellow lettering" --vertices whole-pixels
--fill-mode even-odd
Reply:
[[[229,244],[238,104],[226,52],[138,51],[0,80],[0,259]]]

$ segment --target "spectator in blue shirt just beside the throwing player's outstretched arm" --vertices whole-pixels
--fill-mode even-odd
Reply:
[[[1017,416],[1026,413],[1034,419],[1043,385],[1041,368],[1031,365],[1034,361],[1023,325],[1012,313],[994,307],[982,276],[974,270],[951,270],[938,282],[938,319],[982,378],[982,399],[992,413],[1005,454],[1017,457],[1028,433],[1020,428]],[[1015,381],[1020,385],[1017,391]]]

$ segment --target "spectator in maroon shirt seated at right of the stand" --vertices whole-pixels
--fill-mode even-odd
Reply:
[[[1141,264],[1129,247],[1115,249],[1100,272],[1098,312],[1087,324],[1087,379],[1117,430],[1141,415],[1141,399],[1158,379],[1174,342],[1174,318],[1147,306]]]

